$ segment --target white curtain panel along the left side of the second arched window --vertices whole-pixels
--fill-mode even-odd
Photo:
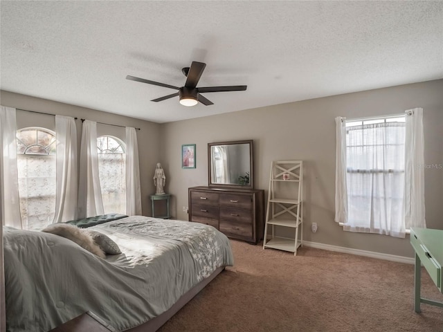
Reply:
[[[80,147],[78,218],[104,214],[98,175],[97,122],[84,120]]]

